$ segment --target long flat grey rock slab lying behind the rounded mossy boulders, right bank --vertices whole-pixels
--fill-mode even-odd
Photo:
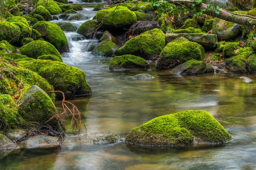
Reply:
[[[201,44],[204,49],[215,49],[218,43],[217,35],[206,34],[206,33],[166,33],[165,42],[171,42],[172,40],[184,37],[192,42],[197,42]]]

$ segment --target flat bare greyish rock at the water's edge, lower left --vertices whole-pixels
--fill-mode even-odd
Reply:
[[[61,145],[58,137],[36,135],[30,137],[22,145],[25,148],[55,148]]]

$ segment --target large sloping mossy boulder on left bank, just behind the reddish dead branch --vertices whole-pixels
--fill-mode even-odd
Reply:
[[[54,85],[54,90],[62,91],[65,94],[65,99],[71,99],[73,96],[91,95],[92,93],[86,82],[85,73],[79,68],[52,60],[18,62],[18,65],[35,71],[45,78],[49,84]],[[56,93],[56,97],[62,99],[62,94]]]

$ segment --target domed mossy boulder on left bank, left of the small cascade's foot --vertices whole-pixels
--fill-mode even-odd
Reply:
[[[27,55],[28,57],[34,59],[37,59],[37,57],[41,55],[52,54],[58,56],[62,61],[61,54],[51,43],[47,41],[36,40],[33,42],[29,42],[28,44],[21,46],[19,50],[21,54]]]

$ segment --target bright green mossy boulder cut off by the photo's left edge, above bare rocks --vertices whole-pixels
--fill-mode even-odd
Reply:
[[[21,119],[18,106],[10,95],[0,95],[0,127],[16,128]],[[0,128],[1,129],[1,128]]]

